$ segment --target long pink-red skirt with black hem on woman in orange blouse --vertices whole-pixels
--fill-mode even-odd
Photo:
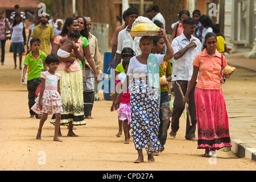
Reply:
[[[228,113],[220,90],[195,89],[198,127],[197,148],[220,149],[232,147],[229,136]]]

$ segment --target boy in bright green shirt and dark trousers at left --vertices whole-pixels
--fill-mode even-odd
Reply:
[[[31,110],[35,104],[35,91],[41,83],[41,72],[44,69],[43,61],[46,59],[46,54],[39,51],[40,39],[33,38],[30,40],[31,52],[27,54],[24,60],[24,69],[22,82],[25,81],[27,72],[27,90],[28,90],[28,107],[30,109],[30,118],[38,118],[38,114]]]

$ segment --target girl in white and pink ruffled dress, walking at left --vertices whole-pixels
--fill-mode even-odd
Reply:
[[[55,72],[60,61],[56,55],[48,55],[45,63],[49,70],[41,73],[42,86],[40,93],[35,100],[34,106],[31,107],[35,113],[42,114],[36,139],[41,139],[42,128],[48,114],[55,114],[56,123],[53,140],[62,142],[62,140],[57,137],[60,127],[60,113],[63,112],[60,97],[60,74]]]

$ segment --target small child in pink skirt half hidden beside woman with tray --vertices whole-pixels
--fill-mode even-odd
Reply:
[[[115,81],[115,84],[117,84],[117,88],[120,86],[123,86],[123,81],[125,81],[127,69],[129,66],[130,57],[125,57],[122,61],[123,68],[125,69],[125,72],[122,72],[118,75],[118,80]],[[126,84],[125,84],[126,85]],[[116,88],[116,89],[117,89]],[[117,106],[116,100],[120,101],[120,105]],[[119,103],[118,101],[118,103]],[[125,133],[125,144],[129,144],[130,139],[130,121],[131,121],[131,106],[130,106],[130,92],[129,89],[126,89],[125,93],[118,94],[115,92],[114,94],[114,100],[112,107],[110,109],[111,111],[117,110],[119,121],[123,121],[123,133]]]

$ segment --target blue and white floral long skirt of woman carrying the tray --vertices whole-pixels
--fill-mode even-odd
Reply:
[[[131,136],[135,149],[145,148],[147,154],[158,152],[160,125],[158,89],[152,90],[146,80],[133,80],[131,84]]]

